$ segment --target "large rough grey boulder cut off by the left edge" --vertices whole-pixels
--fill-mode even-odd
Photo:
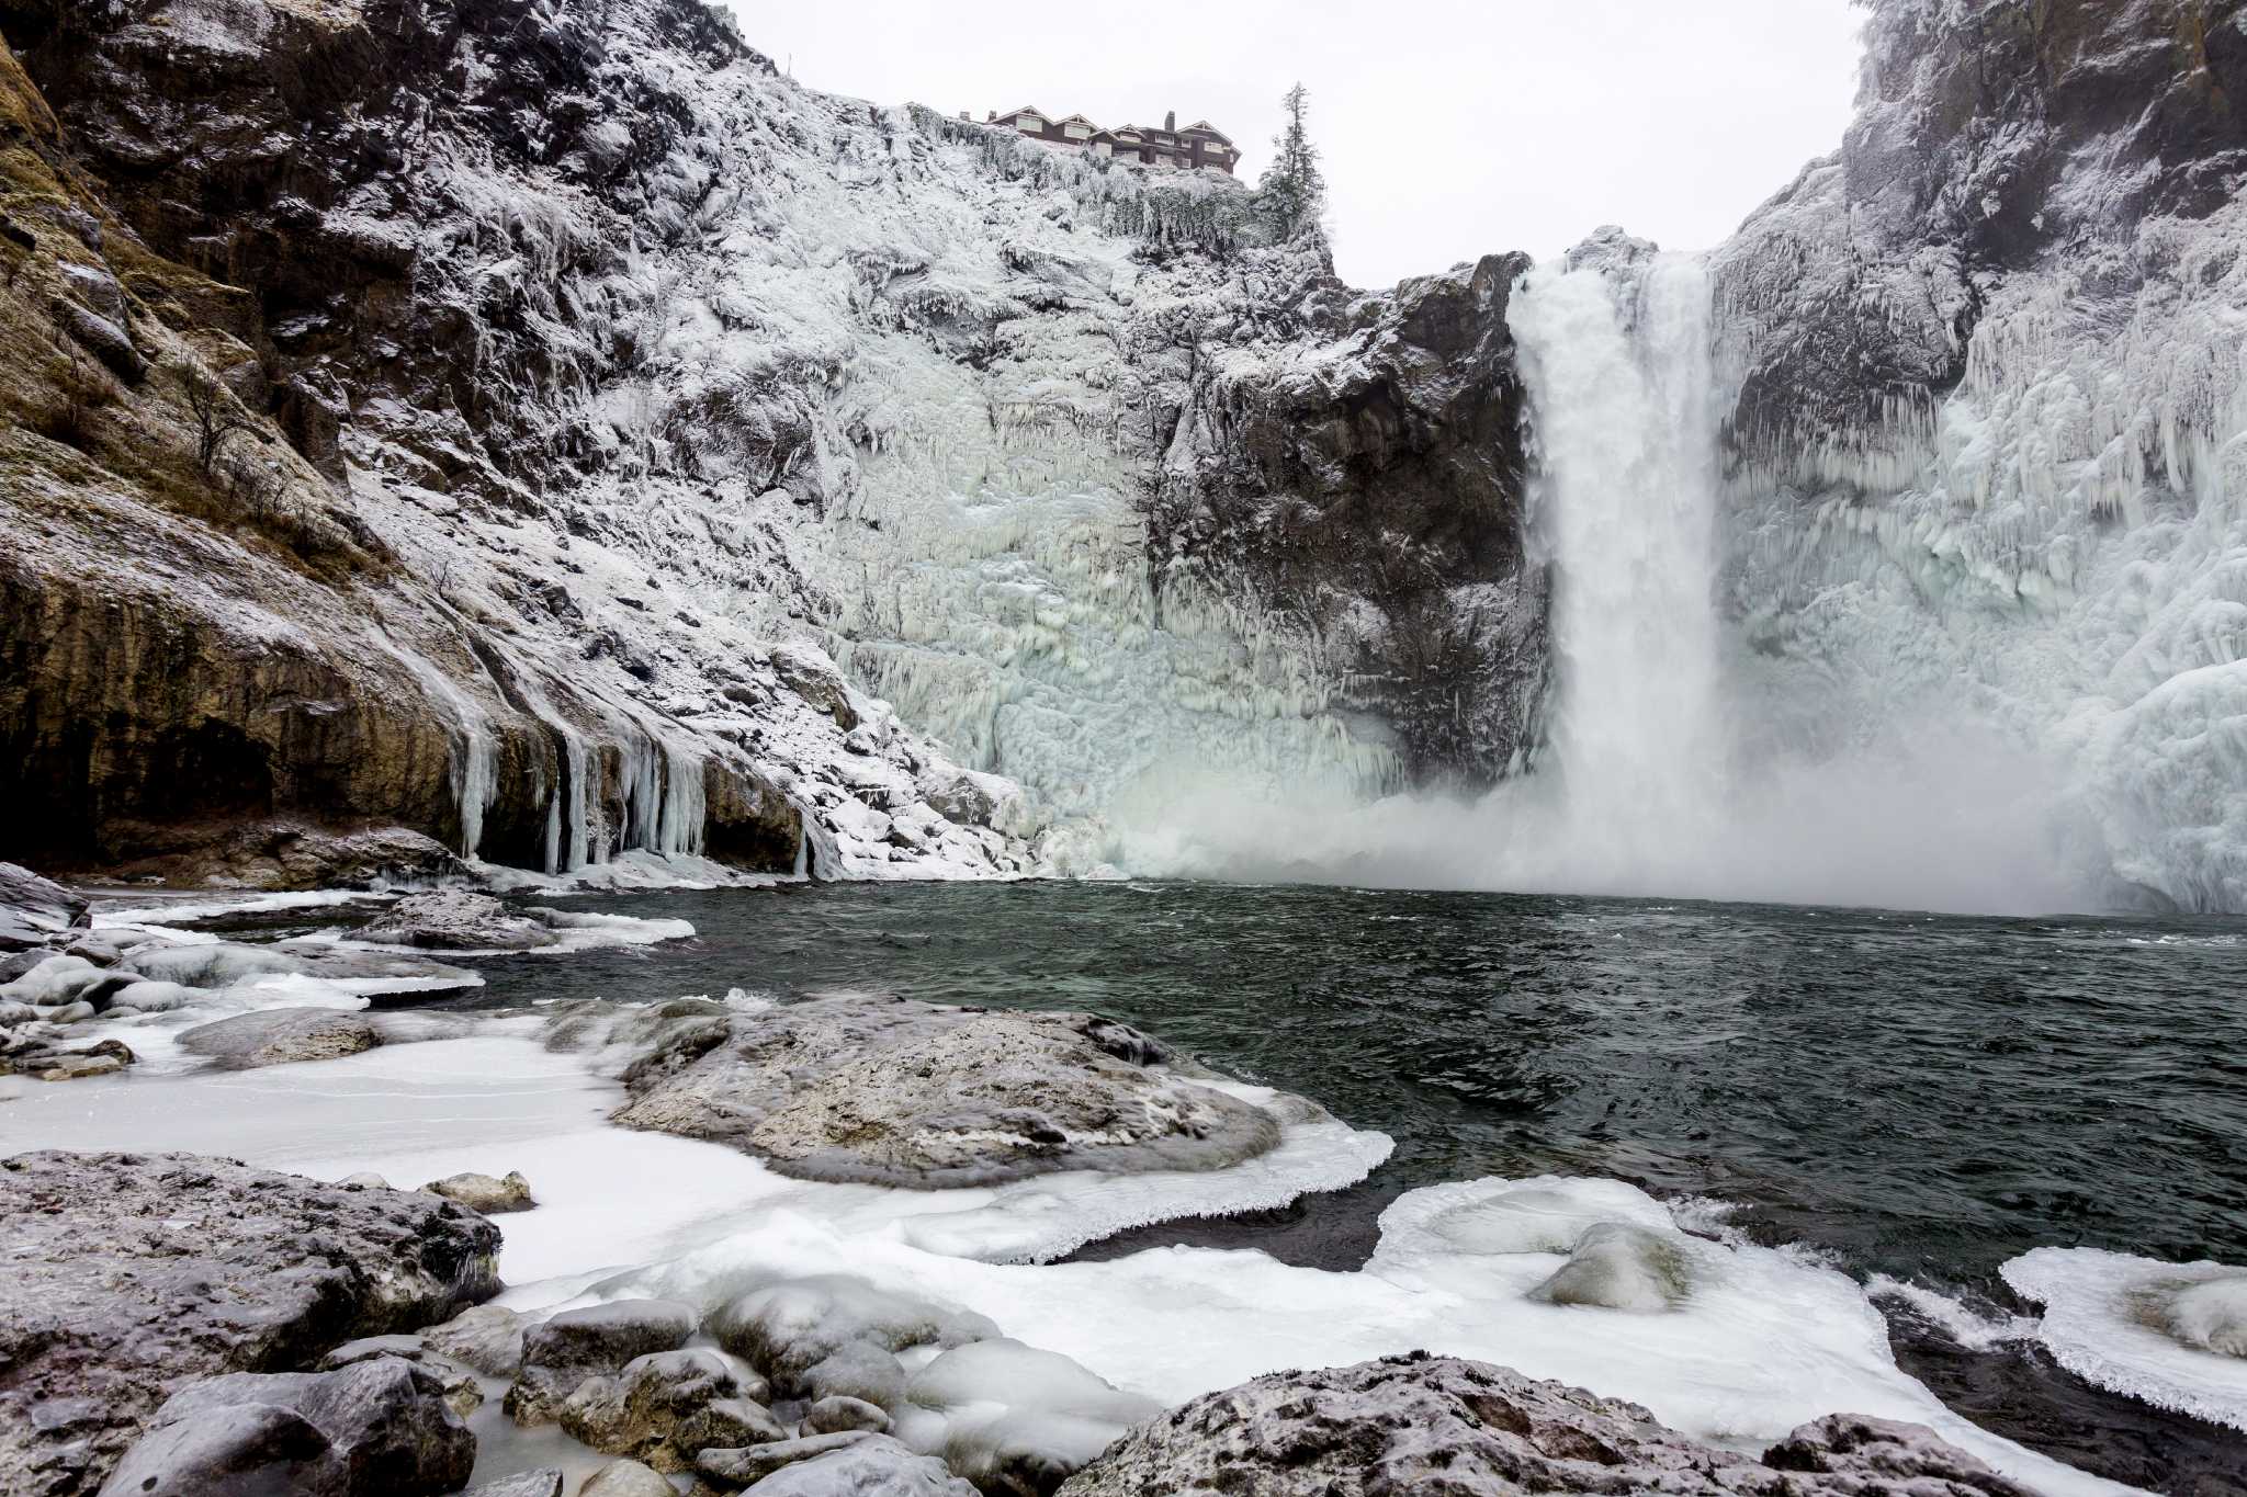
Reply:
[[[0,1221],[4,1493],[94,1493],[193,1378],[303,1365],[499,1293],[499,1230],[449,1201],[191,1154],[18,1154]]]

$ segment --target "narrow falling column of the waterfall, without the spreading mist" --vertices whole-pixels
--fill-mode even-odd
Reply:
[[[1508,323],[1553,566],[1548,772],[1577,878],[1687,866],[1723,797],[1717,402],[1696,258],[1532,272]]]

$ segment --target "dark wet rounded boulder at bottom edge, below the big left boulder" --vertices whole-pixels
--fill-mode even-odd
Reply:
[[[342,1371],[238,1371],[173,1394],[103,1497],[425,1497],[452,1493],[476,1436],[438,1380],[375,1358]]]

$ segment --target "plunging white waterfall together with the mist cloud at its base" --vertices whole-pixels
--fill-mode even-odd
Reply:
[[[2049,768],[1966,702],[1847,682],[1773,698],[1719,604],[1726,489],[1710,281],[1602,238],[1530,272],[1508,321],[1528,388],[1532,543],[1555,689],[1535,770],[1472,803],[1243,806],[1193,873],[1800,904],[2083,909]],[[1800,732],[1804,714],[1813,732]]]

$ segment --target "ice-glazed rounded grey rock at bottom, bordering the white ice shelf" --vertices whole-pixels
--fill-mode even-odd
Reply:
[[[721,1304],[703,1329],[748,1358],[782,1396],[847,1396],[881,1407],[903,1396],[906,1374],[894,1353],[998,1335],[984,1315],[849,1275],[766,1284]]]

